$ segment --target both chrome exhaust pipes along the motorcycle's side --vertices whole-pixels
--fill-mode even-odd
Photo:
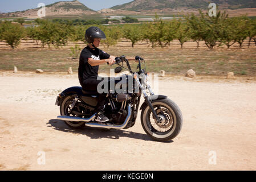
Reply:
[[[72,117],[67,115],[59,115],[57,119],[60,119],[62,121],[75,121],[75,122],[82,121],[82,122],[85,122],[86,126],[90,126],[90,127],[101,127],[105,129],[124,129],[127,126],[129,119],[131,118],[131,104],[128,104],[127,109],[128,109],[128,114],[122,125],[112,125],[110,123],[98,123],[98,122],[88,123],[95,118],[96,113],[92,115],[90,118],[79,118],[79,117]]]

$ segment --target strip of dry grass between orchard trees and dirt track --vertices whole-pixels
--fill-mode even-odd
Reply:
[[[197,75],[226,75],[234,72],[235,75],[256,76],[255,49],[234,49],[233,51],[217,51],[207,49],[161,49],[161,48],[103,48],[113,56],[127,57],[142,56],[146,61],[147,71],[165,72],[184,75],[188,69],[193,69]],[[16,66],[18,71],[35,71],[43,69],[48,72],[67,72],[72,67],[73,72],[78,70],[78,60],[68,59],[69,49],[44,48],[14,49],[0,51],[0,70],[12,71]],[[131,67],[136,70],[137,64],[131,61]],[[100,72],[108,72],[109,65],[100,65]],[[143,64],[144,68],[144,64]]]

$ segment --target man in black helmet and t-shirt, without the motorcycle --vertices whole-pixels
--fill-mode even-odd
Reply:
[[[86,30],[85,39],[88,43],[79,59],[78,77],[80,85],[83,90],[97,92],[97,85],[102,80],[97,80],[99,65],[108,63],[109,65],[115,63],[115,56],[102,51],[100,40],[105,39],[106,36],[98,27],[90,27]],[[128,60],[135,60],[134,58],[127,58]],[[107,122],[109,119],[103,114],[106,93],[97,92],[96,118],[97,122]]]

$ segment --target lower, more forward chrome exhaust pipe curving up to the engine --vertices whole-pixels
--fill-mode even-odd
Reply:
[[[86,126],[101,127],[105,129],[124,129],[127,126],[129,119],[131,118],[131,104],[128,104],[127,107],[128,107],[128,114],[122,125],[112,125],[110,123],[86,123]]]

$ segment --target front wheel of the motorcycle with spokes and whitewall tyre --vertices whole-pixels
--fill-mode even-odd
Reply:
[[[177,137],[182,127],[182,114],[178,106],[168,98],[152,101],[154,110],[160,122],[153,119],[149,106],[141,111],[141,125],[144,131],[153,139],[161,142]]]

